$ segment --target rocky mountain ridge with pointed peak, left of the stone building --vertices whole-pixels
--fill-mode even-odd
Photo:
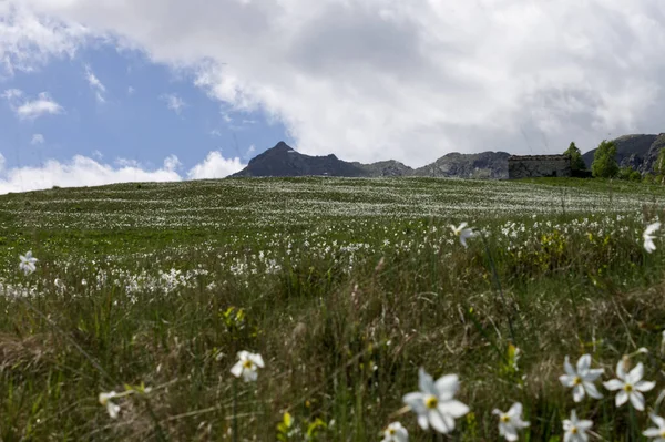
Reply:
[[[349,163],[330,154],[310,156],[296,152],[285,142],[252,158],[247,167],[232,175],[239,176],[436,176],[466,178],[508,178],[505,152],[483,152],[480,154],[447,154],[432,164],[413,169],[395,160],[371,164]]]

